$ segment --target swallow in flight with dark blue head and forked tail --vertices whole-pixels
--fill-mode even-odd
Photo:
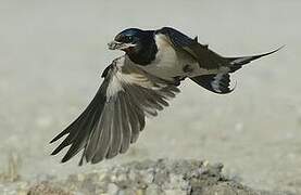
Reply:
[[[79,165],[97,164],[125,153],[146,126],[190,79],[218,94],[230,93],[230,74],[253,60],[275,53],[224,57],[183,32],[128,28],[115,36],[110,50],[124,55],[103,70],[103,82],[87,108],[50,143],[66,138],[52,152],[70,146],[62,162],[83,151]]]

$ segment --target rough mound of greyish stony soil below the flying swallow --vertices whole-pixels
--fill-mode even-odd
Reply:
[[[29,187],[28,195],[285,195],[255,191],[223,176],[222,164],[199,160],[142,160],[52,179]],[[28,190],[27,190],[28,191]],[[20,191],[18,191],[20,192]],[[75,192],[75,193],[74,193]]]

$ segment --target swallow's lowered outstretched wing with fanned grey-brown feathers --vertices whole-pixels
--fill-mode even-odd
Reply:
[[[145,128],[146,116],[156,116],[158,110],[168,106],[167,100],[179,92],[175,83],[147,74],[124,56],[113,61],[102,76],[104,81],[88,107],[50,142],[67,134],[52,153],[70,145],[62,162],[81,150],[79,165],[125,153]]]

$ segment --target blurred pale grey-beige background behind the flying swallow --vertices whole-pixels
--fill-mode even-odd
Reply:
[[[37,180],[130,160],[197,158],[223,162],[226,174],[251,187],[301,193],[300,9],[300,0],[0,0],[0,174]],[[236,73],[231,94],[185,81],[125,155],[80,168],[78,157],[62,165],[63,154],[50,156],[57,144],[49,141],[122,55],[106,43],[124,28],[162,26],[228,56],[286,47]]]

